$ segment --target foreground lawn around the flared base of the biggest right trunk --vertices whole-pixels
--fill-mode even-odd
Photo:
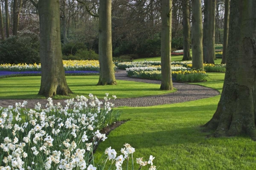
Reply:
[[[224,73],[209,73],[207,82],[195,84],[221,91],[223,80]],[[128,121],[100,143],[95,156],[98,159],[110,146],[119,155],[127,142],[136,150],[134,158],[155,156],[153,162],[159,170],[255,169],[256,144],[250,137],[207,138],[210,133],[201,131],[200,125],[212,118],[219,98],[118,108],[123,112],[120,119]]]

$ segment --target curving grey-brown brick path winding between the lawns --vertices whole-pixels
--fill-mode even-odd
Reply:
[[[124,70],[117,70],[115,76],[117,80],[161,84],[161,81],[158,81],[158,80],[129,78],[126,76],[126,73]],[[208,87],[193,85],[193,84],[173,82],[173,86],[177,89],[177,91],[171,94],[139,97],[139,98],[129,98],[129,99],[116,99],[114,103],[116,107],[155,106],[155,105],[162,105],[162,104],[181,103],[181,102],[209,98],[209,97],[219,95],[219,92],[217,90],[214,90]],[[16,100],[16,99],[0,100],[0,106],[3,106],[3,107],[8,107],[9,105],[15,106],[16,102],[22,103],[23,101],[24,100]],[[26,101],[28,102],[28,108],[34,108],[34,105],[38,102],[42,104],[42,106],[45,106],[45,104],[47,103],[46,99],[35,99],[35,100],[26,100]],[[65,106],[64,100],[54,100],[54,103],[57,103],[57,102],[60,102],[63,106]]]

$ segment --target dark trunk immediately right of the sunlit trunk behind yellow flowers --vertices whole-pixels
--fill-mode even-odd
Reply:
[[[214,64],[212,0],[204,0],[203,19],[203,62]],[[214,51],[215,52],[215,51]],[[193,55],[192,55],[193,56]]]

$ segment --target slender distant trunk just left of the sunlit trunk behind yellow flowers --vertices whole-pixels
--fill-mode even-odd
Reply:
[[[189,0],[183,0],[183,58],[182,61],[191,60],[190,56],[190,22],[189,22]]]

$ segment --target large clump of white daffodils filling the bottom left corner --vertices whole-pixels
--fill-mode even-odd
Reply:
[[[92,151],[98,141],[107,138],[98,129],[116,121],[119,113],[113,111],[109,98],[103,103],[91,94],[89,99],[77,96],[76,101],[65,102],[62,107],[48,98],[46,109],[37,103],[28,110],[26,101],[16,103],[15,108],[0,107],[1,170],[96,170],[89,165]],[[79,149],[85,146],[86,150]]]

